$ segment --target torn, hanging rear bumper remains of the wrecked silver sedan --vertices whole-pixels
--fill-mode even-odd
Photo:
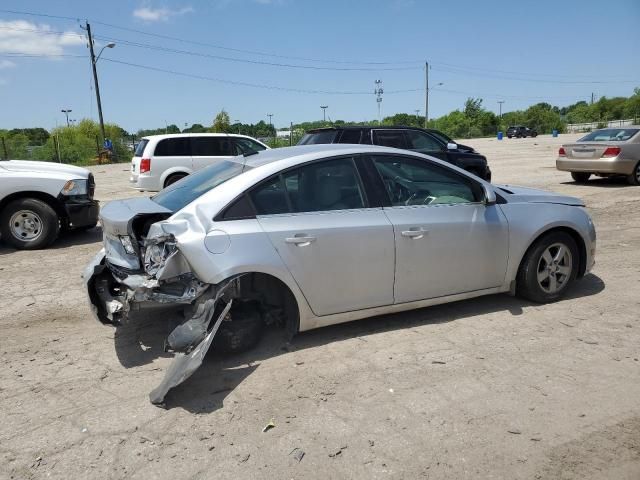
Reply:
[[[161,282],[144,274],[127,275],[107,265],[104,251],[101,251],[87,265],[83,279],[91,310],[104,324],[127,323],[132,309],[149,302],[167,306],[182,304],[191,313],[165,341],[165,350],[176,355],[162,382],[149,395],[151,403],[161,405],[169,390],[184,382],[202,365],[220,324],[229,316],[233,301],[223,297],[237,277],[219,285],[204,284],[193,274],[182,274]]]

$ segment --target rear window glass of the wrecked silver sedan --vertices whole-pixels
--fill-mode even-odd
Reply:
[[[151,197],[151,200],[177,212],[209,190],[249,169],[251,167],[243,163],[222,160],[169,185]]]

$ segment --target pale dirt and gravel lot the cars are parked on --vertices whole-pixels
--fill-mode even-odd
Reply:
[[[91,317],[99,230],[0,246],[0,477],[640,478],[640,187],[554,168],[560,138],[468,140],[497,183],[585,199],[597,264],[552,305],[496,295],[308,332],[148,392],[165,325]],[[97,196],[132,196],[127,165]],[[263,427],[273,419],[275,428]],[[299,449],[304,457],[298,461]]]

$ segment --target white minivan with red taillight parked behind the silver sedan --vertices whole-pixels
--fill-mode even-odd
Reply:
[[[129,181],[141,191],[157,192],[220,160],[269,147],[244,135],[176,133],[143,137],[131,160]]]

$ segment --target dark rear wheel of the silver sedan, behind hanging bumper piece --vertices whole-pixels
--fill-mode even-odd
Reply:
[[[260,341],[263,328],[264,321],[255,302],[234,304],[231,320],[220,324],[212,348],[223,353],[245,352]]]

